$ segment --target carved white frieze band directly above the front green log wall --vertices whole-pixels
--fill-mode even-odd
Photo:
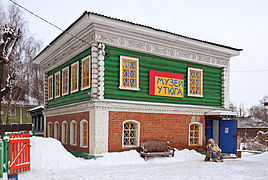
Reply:
[[[135,51],[143,51],[158,56],[165,56],[181,60],[189,60],[192,62],[212,66],[227,67],[229,61],[228,59],[224,58],[208,56],[197,52],[182,50],[179,48],[171,48],[168,46],[162,46],[151,42],[146,42],[143,40],[136,40],[133,38],[123,37],[120,35],[115,35],[101,31],[95,31],[95,41]]]

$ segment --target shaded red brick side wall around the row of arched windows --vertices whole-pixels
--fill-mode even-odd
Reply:
[[[64,115],[60,115],[60,116],[51,116],[51,117],[47,117],[46,118],[46,123],[48,124],[49,122],[52,122],[52,137],[54,137],[54,122],[58,121],[59,122],[59,126],[60,126],[60,141],[61,141],[61,137],[62,137],[62,122],[66,121],[68,124],[68,131],[67,131],[67,145],[63,146],[71,151],[76,151],[76,152],[84,152],[84,153],[89,153],[89,148],[82,148],[80,147],[80,122],[82,120],[87,120],[87,122],[89,123],[89,112],[81,112],[81,113],[73,113],[73,114],[64,114]],[[71,125],[71,121],[75,120],[76,124],[77,124],[77,144],[76,146],[72,146],[70,145],[70,125]],[[48,127],[48,126],[47,126]],[[48,128],[46,130],[47,134],[48,134]],[[89,139],[89,127],[88,127],[88,139]],[[88,142],[89,144],[89,142]]]

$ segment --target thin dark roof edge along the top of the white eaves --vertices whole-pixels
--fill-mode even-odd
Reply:
[[[159,32],[164,32],[164,33],[169,33],[169,34],[172,34],[172,35],[176,35],[176,36],[180,36],[180,37],[183,37],[183,38],[186,38],[186,39],[190,39],[190,40],[195,40],[195,41],[199,41],[199,42],[202,42],[202,43],[207,43],[207,44],[211,44],[211,45],[215,45],[215,46],[219,46],[219,47],[223,47],[223,48],[227,48],[227,49],[231,49],[231,50],[235,50],[235,51],[242,51],[243,49],[238,49],[238,48],[233,48],[233,47],[230,47],[230,46],[225,46],[225,45],[221,45],[221,44],[217,44],[217,43],[213,43],[213,42],[209,42],[209,41],[204,41],[204,40],[200,40],[200,39],[196,39],[196,38],[192,38],[192,37],[188,37],[188,36],[184,36],[184,35],[181,35],[181,34],[177,34],[177,33],[173,33],[173,32],[169,32],[169,31],[165,31],[165,30],[161,30],[161,29],[157,29],[157,28],[154,28],[154,27],[151,27],[151,26],[146,26],[146,25],[143,25],[143,24],[139,24],[139,23],[133,23],[133,22],[130,22],[130,21],[126,21],[126,20],[122,20],[122,19],[118,19],[118,18],[113,18],[113,17],[110,17],[110,16],[105,16],[105,15],[102,15],[102,14],[98,14],[98,13],[95,13],[95,12],[88,12],[88,11],[85,11],[76,21],[74,21],[67,29],[65,29],[60,35],[58,35],[53,41],[51,41],[51,43],[49,43],[49,45],[47,45],[35,58],[34,60],[40,55],[42,54],[47,48],[49,48],[50,46],[52,46],[52,44],[57,40],[59,39],[65,32],[67,32],[69,29],[71,29],[80,19],[82,19],[85,15],[96,15],[96,16],[101,16],[101,17],[105,17],[105,18],[108,18],[108,19],[113,19],[113,20],[116,20],[116,21],[121,21],[121,22],[125,22],[125,23],[129,23],[129,24],[132,24],[132,25],[137,25],[137,26],[141,26],[141,27],[145,27],[145,28],[149,28],[149,29],[153,29],[155,31],[159,31]]]

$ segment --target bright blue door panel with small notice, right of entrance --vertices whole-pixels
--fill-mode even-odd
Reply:
[[[236,120],[220,120],[219,146],[223,153],[236,153]]]

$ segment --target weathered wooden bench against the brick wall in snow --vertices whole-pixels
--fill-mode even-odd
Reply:
[[[147,141],[141,143],[140,155],[145,160],[148,157],[169,157],[174,156],[175,149],[169,146],[169,142],[163,141]]]

